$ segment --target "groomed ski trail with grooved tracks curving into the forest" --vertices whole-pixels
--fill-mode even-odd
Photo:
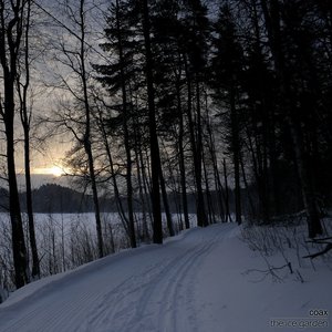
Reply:
[[[1,332],[198,332],[197,271],[235,225],[107,257],[1,309]],[[212,235],[212,236],[211,236]]]

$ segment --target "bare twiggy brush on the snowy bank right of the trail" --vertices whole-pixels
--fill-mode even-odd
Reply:
[[[324,219],[323,226],[328,234],[332,232],[332,220]],[[245,225],[241,231],[241,239],[253,251],[257,251],[267,269],[250,269],[248,273],[257,273],[259,281],[267,278],[272,278],[273,281],[282,281],[289,274],[295,276],[295,280],[304,282],[302,277],[305,269],[309,267],[317,270],[312,260],[305,260],[305,257],[315,257],[313,252],[324,251],[322,247],[324,241],[309,241],[307,239],[307,222],[302,214],[283,216],[281,220],[274,220],[271,225]],[[332,261],[331,251],[326,252],[321,258],[326,264]],[[279,261],[279,264],[271,263]],[[283,263],[282,263],[283,262]],[[287,274],[284,270],[288,271]]]

